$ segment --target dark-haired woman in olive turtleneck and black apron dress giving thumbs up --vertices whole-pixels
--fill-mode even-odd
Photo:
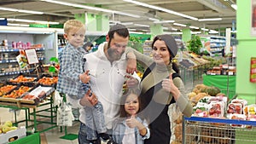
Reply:
[[[184,85],[178,75],[177,65],[172,63],[172,58],[177,54],[177,43],[170,35],[154,37],[153,59],[133,51],[137,60],[148,67],[140,84],[143,106],[141,115],[147,118],[151,134],[145,144],[169,144],[171,124],[167,112],[170,104],[176,102],[186,117],[192,115],[192,106],[184,94]]]

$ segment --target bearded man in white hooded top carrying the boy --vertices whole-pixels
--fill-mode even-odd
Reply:
[[[105,116],[105,122],[109,134],[112,130],[112,122],[118,117],[120,97],[126,72],[136,74],[136,60],[133,54],[125,55],[125,48],[129,41],[128,29],[120,24],[112,26],[106,37],[107,42],[99,45],[96,52],[84,55],[86,59],[84,69],[90,71],[90,88],[97,96],[96,101],[101,101]],[[126,70],[126,57],[129,63]],[[138,80],[139,78],[135,75]],[[76,104],[75,104],[76,102]],[[72,101],[73,105],[84,107],[88,104],[86,96],[80,101]],[[95,103],[92,102],[92,105]],[[86,140],[86,126],[84,108],[80,109],[79,144],[89,144]],[[96,143],[101,143],[100,139]]]

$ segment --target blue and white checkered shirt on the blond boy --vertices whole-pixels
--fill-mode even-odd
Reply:
[[[84,72],[85,50],[80,47],[75,49],[71,44],[61,51],[59,54],[60,72],[58,75],[58,84],[56,89],[60,93],[67,95],[75,95],[77,98],[83,97],[84,91],[82,82],[79,80],[79,75]]]

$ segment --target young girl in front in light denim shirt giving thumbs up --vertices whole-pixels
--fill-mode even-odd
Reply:
[[[140,112],[139,90],[129,89],[122,96],[120,118],[113,121],[113,141],[118,144],[143,144],[150,132],[145,120],[137,117]]]

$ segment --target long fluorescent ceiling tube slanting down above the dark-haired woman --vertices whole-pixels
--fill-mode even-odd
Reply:
[[[147,4],[147,3],[141,3],[141,2],[134,1],[134,0],[123,0],[123,1],[128,2],[128,3],[134,3],[134,4],[137,4],[137,5],[140,5],[140,6],[143,6],[143,7],[147,7],[147,8],[150,8],[150,9],[161,10],[161,11],[164,11],[166,13],[175,14],[175,15],[182,16],[184,18],[188,18],[188,19],[191,19],[191,20],[198,20],[195,17],[189,16],[189,15],[186,15],[186,14],[177,13],[176,11],[173,11],[173,10],[170,10],[170,9],[160,8],[160,7],[150,5],[150,4]]]

